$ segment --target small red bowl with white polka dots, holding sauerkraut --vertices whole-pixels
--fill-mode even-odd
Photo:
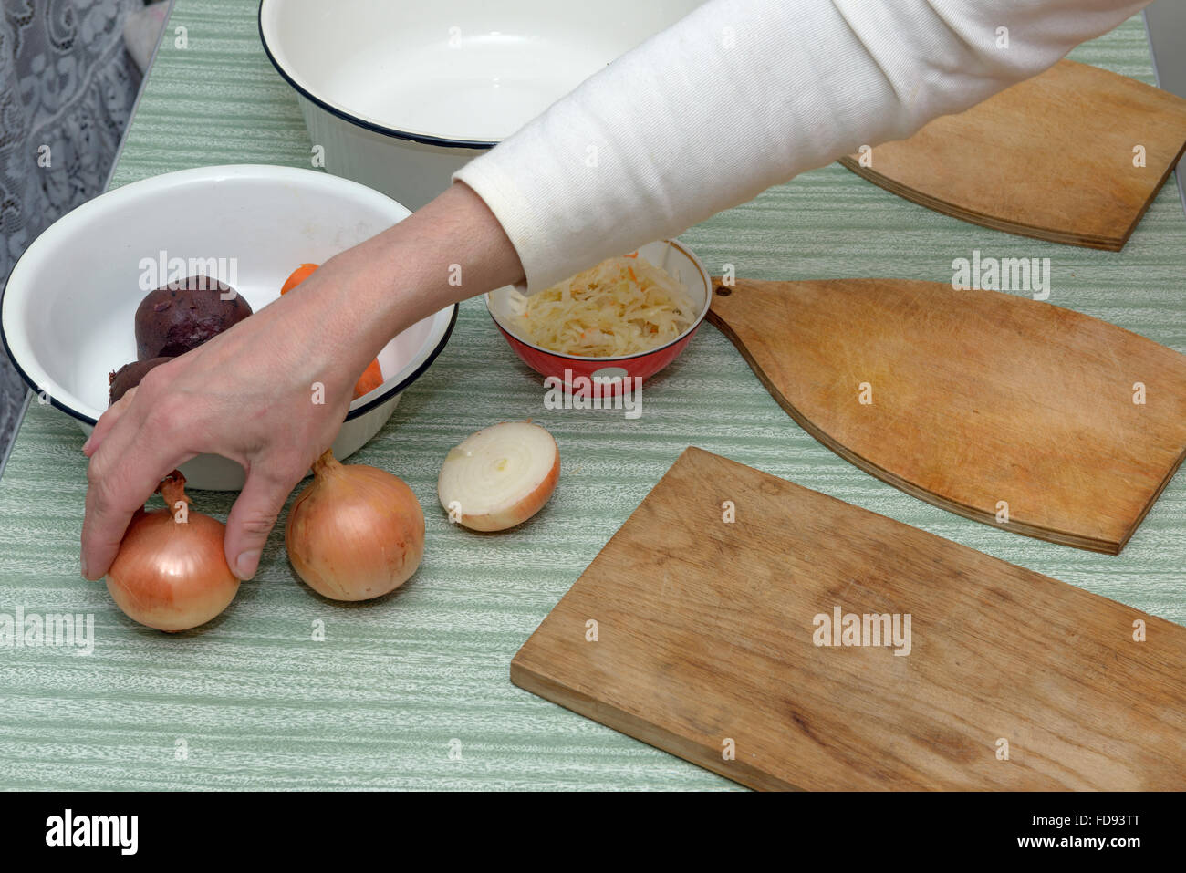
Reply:
[[[691,342],[693,336],[704,320],[704,316],[708,314],[708,307],[713,300],[713,285],[700,259],[675,241],[663,240],[648,243],[638,249],[638,256],[667,270],[684,287],[699,306],[699,314],[688,330],[657,349],[610,358],[561,355],[535,345],[516,333],[515,329],[510,326],[514,324],[514,306],[518,297],[514,288],[499,288],[486,294],[486,308],[515,353],[541,376],[559,378],[567,390],[572,390],[572,381],[581,376],[587,378],[637,377],[645,380],[680,357],[680,352]],[[611,388],[612,394],[616,394],[620,389],[621,382],[610,383],[607,387]]]

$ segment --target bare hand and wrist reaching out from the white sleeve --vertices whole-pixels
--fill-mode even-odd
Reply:
[[[458,267],[463,283],[454,281]],[[285,501],[333,442],[355,382],[380,349],[452,302],[522,279],[495,216],[455,184],[250,318],[151,370],[83,446],[83,576],[107,573],[132,514],[164,476],[212,453],[247,472],[224,546],[235,575],[250,579]]]

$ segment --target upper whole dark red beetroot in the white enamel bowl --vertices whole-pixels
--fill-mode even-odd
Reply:
[[[184,355],[251,314],[247,300],[215,279],[190,276],[177,286],[148,292],[136,308],[140,361]]]

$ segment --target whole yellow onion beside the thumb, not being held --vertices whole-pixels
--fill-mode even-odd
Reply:
[[[370,600],[395,591],[425,554],[425,514],[403,479],[326,450],[313,483],[285,527],[288,560],[301,580],[332,600]]]

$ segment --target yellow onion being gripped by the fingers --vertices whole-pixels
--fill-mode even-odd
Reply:
[[[225,610],[238,579],[227,566],[223,523],[190,510],[185,477],[174,470],[157,491],[165,509],[136,510],[107,572],[107,590],[134,622],[184,631]]]

